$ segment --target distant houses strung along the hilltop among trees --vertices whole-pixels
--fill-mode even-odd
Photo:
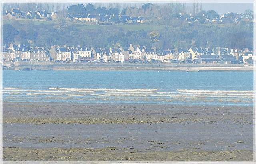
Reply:
[[[57,13],[56,12],[51,12],[48,13],[47,11],[38,11],[38,12],[27,12],[22,13],[19,9],[11,9],[10,12],[4,11],[3,16],[7,19],[15,19],[15,18],[56,18]],[[67,14],[66,18],[67,19],[72,19],[72,20],[80,20],[80,21],[85,21],[85,22],[98,22],[98,23],[108,23],[110,21],[110,18],[113,15],[92,15],[92,14]],[[154,18],[144,18],[142,16],[138,17],[130,17],[130,16],[121,16],[118,15],[119,20],[117,22],[122,22],[122,23],[146,23],[150,22],[152,19],[161,19],[161,17],[154,17]],[[173,18],[187,22],[187,23],[200,23],[200,24],[212,24],[212,23],[221,23],[221,24],[239,24],[241,21],[245,22],[250,22],[252,25],[252,16],[246,15],[246,14],[238,14],[238,13],[233,13],[233,12],[228,12],[226,14],[223,14],[222,16],[219,15],[210,15],[206,16],[205,13],[202,12],[201,15],[194,16],[192,14],[187,14],[184,15],[182,13],[179,14],[174,14]],[[150,19],[150,20],[149,20]],[[169,18],[170,19],[170,18]],[[249,24],[250,25],[250,24]]]

